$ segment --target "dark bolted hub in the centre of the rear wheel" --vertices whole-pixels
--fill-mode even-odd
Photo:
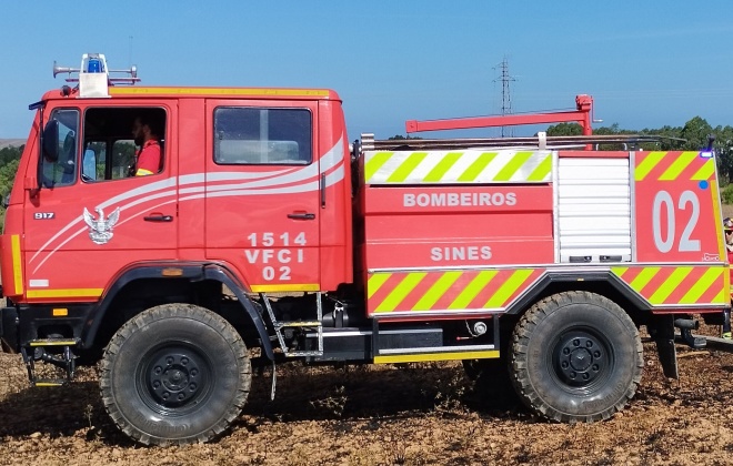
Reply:
[[[571,334],[561,338],[556,352],[558,375],[574,386],[588,385],[608,367],[603,346],[590,335]]]

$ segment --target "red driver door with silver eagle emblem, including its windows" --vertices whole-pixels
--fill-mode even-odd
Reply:
[[[172,144],[153,175],[129,178],[127,168],[116,162],[123,148],[131,148],[135,109],[47,110],[44,140],[51,144],[43,151],[41,189],[34,195],[27,191],[30,199],[23,209],[29,300],[99,298],[121,271],[177,257]],[[165,122],[175,115],[174,107],[155,109]],[[31,165],[29,170],[36,170]]]

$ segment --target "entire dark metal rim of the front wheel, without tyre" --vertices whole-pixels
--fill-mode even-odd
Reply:
[[[210,395],[212,364],[190,344],[162,344],[142,357],[138,391],[154,412],[177,416],[194,411]]]

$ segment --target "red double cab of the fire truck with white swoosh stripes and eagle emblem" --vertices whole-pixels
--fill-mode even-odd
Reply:
[[[6,296],[33,310],[68,304],[67,315],[23,330],[24,343],[92,341],[89,314],[106,312],[111,290],[167,264],[218,264],[255,293],[352,281],[349,144],[335,92],[118,84],[99,95],[84,82],[34,105],[10,194]],[[131,176],[141,113],[162,156],[155,173]]]

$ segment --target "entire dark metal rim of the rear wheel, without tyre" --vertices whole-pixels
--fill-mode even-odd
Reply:
[[[565,389],[592,393],[609,378],[615,363],[605,336],[590,328],[563,332],[550,352],[549,367]]]

